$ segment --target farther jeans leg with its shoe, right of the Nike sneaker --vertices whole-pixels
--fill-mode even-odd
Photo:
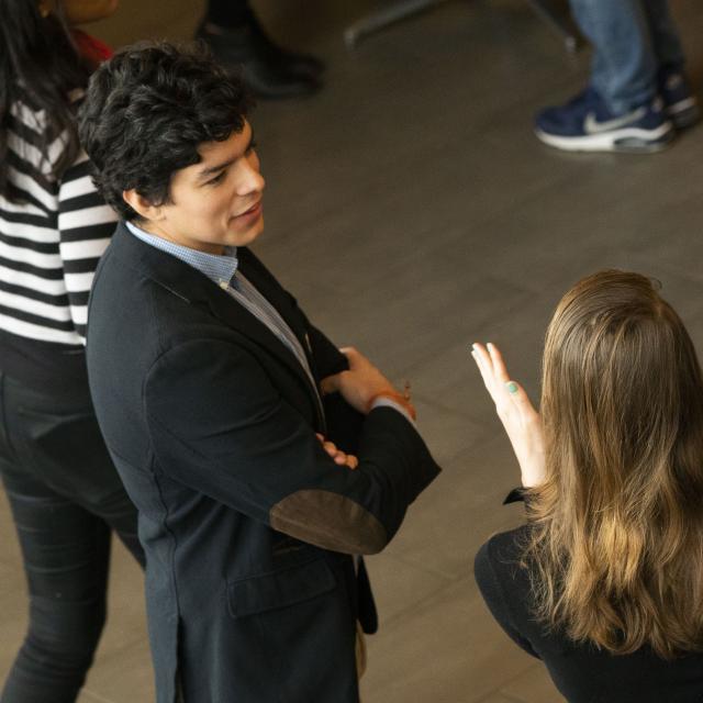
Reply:
[[[657,88],[665,110],[678,130],[695,124],[698,102],[684,74],[685,57],[668,0],[643,0],[651,47],[657,63]]]

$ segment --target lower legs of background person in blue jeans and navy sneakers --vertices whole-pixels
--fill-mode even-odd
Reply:
[[[699,120],[668,0],[570,3],[593,47],[591,80],[537,115],[539,140],[566,150],[647,153]]]

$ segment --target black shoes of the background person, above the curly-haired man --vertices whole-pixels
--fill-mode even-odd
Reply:
[[[227,30],[203,23],[196,36],[210,46],[217,62],[239,68],[259,98],[299,98],[321,88],[319,71],[313,68],[317,59],[279,48],[256,22]]]

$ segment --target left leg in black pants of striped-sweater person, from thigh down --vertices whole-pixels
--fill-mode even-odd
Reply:
[[[30,624],[2,703],[72,703],[105,618],[110,528],[3,467],[30,594]]]

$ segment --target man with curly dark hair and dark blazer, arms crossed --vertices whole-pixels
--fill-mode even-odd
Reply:
[[[406,394],[248,249],[246,114],[197,51],[126,48],[94,74],[80,136],[124,222],[92,290],[90,386],[140,511],[157,701],[356,703],[376,613],[355,555],[438,467]]]

